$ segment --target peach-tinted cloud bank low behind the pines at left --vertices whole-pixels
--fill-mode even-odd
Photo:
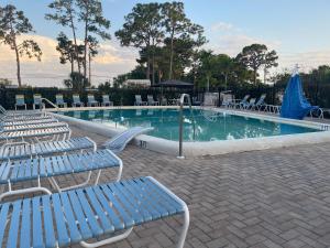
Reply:
[[[56,40],[42,35],[22,35],[19,40],[32,39],[42,48],[42,61],[37,62],[21,57],[21,73],[24,84],[32,86],[63,86],[63,79],[68,77],[69,64],[59,64],[59,54],[56,51]],[[138,52],[121,47],[117,41],[100,44],[99,54],[92,61],[92,83],[103,83],[119,74],[132,69],[136,62]],[[10,78],[16,83],[15,55],[9,46],[0,45],[0,77]]]

